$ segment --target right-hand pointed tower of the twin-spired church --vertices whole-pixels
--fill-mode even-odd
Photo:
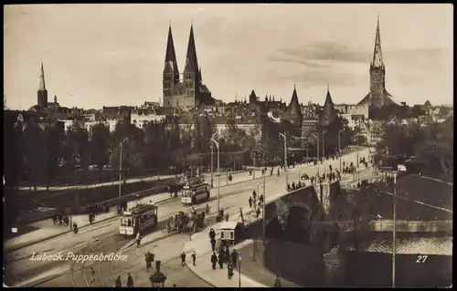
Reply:
[[[187,45],[186,67],[184,68],[184,87],[186,104],[193,103],[198,106],[198,92],[200,74],[198,71],[196,42],[194,39],[194,26],[190,25],[189,43]]]

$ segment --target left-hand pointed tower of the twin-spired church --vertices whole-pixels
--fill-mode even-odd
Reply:
[[[165,67],[163,76],[163,93],[164,104],[168,104],[169,99],[175,95],[175,85],[179,82],[179,69],[177,68],[175,44],[173,42],[173,34],[171,23],[168,28],[168,41],[166,43],[165,52]]]

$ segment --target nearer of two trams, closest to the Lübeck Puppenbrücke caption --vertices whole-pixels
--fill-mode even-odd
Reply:
[[[134,236],[143,233],[147,228],[157,225],[157,206],[154,204],[138,204],[129,211],[122,213],[119,234]]]

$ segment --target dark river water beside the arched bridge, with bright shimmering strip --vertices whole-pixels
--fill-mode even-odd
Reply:
[[[352,235],[324,235],[314,244],[270,236],[265,266],[299,286],[392,286],[392,234]],[[334,241],[341,252],[339,265],[330,267],[324,253]],[[396,286],[452,285],[452,234],[397,233],[396,248]]]

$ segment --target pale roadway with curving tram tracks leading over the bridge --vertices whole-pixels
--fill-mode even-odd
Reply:
[[[361,157],[358,154],[358,157]],[[344,161],[356,161],[356,152],[349,153],[344,157]],[[339,165],[338,160],[324,161],[324,164],[320,167],[326,167],[332,164],[334,168]],[[313,175],[317,171],[317,166],[301,166],[290,169],[289,171],[289,182],[298,180],[298,172]],[[292,174],[295,173],[296,178],[292,179]],[[284,175],[272,175],[265,176],[265,191],[266,195],[278,194],[285,191],[285,177]],[[258,187],[259,180],[250,180],[247,182],[239,182],[237,184],[230,185],[229,187],[220,188],[220,207],[226,210],[226,213],[239,213],[239,208],[245,207],[248,204],[249,196],[252,190]],[[262,182],[260,180],[260,184]],[[212,212],[217,208],[217,193],[218,189],[211,191],[211,198],[208,202]],[[261,193],[261,191],[260,191]],[[144,197],[144,201],[154,199],[151,197]],[[201,203],[196,206],[197,211],[203,211],[206,203]],[[159,220],[166,219],[169,216],[174,215],[178,211],[190,211],[190,206],[183,206],[178,199],[169,200],[165,203],[159,204],[158,214]],[[77,286],[83,286],[85,284],[84,274],[81,271],[74,272],[75,269],[79,270],[80,265],[73,265],[69,261],[31,261],[30,256],[33,252],[47,252],[48,255],[57,255],[59,252],[67,253],[84,253],[84,254],[95,254],[101,251],[106,253],[116,252],[122,247],[123,244],[129,242],[129,239],[124,239],[122,236],[117,235],[118,229],[118,218],[114,217],[103,223],[96,223],[86,228],[81,229],[80,234],[73,237],[73,234],[62,234],[58,237],[49,239],[42,243],[33,244],[16,251],[8,252],[5,254],[4,266],[5,266],[5,282],[8,285],[14,286],[31,286],[34,285],[34,281],[43,280],[49,276],[55,276],[52,280],[48,280],[46,284],[51,286],[75,286],[72,281],[78,281]],[[97,237],[98,240],[95,239]],[[156,243],[160,248],[167,248],[167,244],[170,244],[167,239]],[[175,255],[179,255],[180,248],[176,248]],[[172,255],[173,256],[173,255]],[[173,256],[174,257],[174,256]],[[69,270],[72,268],[73,274],[77,274],[79,277],[69,275]],[[106,268],[106,267],[105,267]],[[111,271],[110,271],[111,272]],[[124,275],[125,276],[125,275]],[[71,279],[73,277],[73,280]],[[110,277],[104,275],[107,286],[112,286]],[[124,281],[124,279],[122,279]],[[20,284],[22,281],[22,284]],[[57,282],[57,283],[52,283]]]

